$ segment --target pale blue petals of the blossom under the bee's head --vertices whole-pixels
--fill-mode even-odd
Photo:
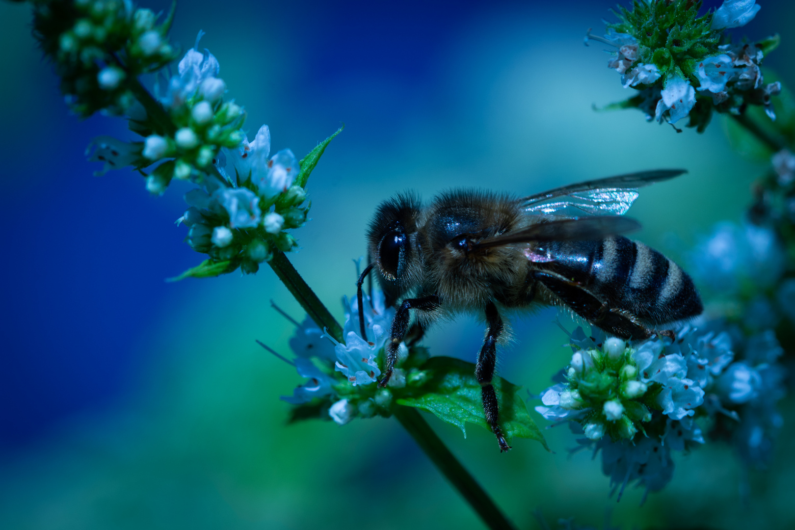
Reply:
[[[386,308],[384,295],[380,291],[375,291],[372,299],[365,294],[363,302],[366,338],[359,336],[359,304],[355,296],[351,299],[343,297],[344,344],[326,335],[308,317],[303,323],[296,323],[290,348],[297,355],[294,363],[299,375],[308,377],[308,381],[298,386],[293,391],[293,396],[282,397],[282,400],[291,404],[304,404],[316,398],[328,399],[328,416],[340,425],[347,424],[355,416],[374,416],[378,406],[375,400],[342,397],[334,388],[343,382],[352,387],[373,385],[381,375],[377,362],[378,352],[386,342],[394,308]],[[402,347],[405,350],[405,346]],[[393,377],[394,381],[390,381],[390,386],[401,384],[400,375],[398,370],[397,377]],[[405,377],[402,384],[405,385]]]

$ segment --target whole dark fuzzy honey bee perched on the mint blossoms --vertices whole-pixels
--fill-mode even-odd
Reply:
[[[622,217],[638,188],[682,173],[613,176],[521,199],[452,190],[427,206],[411,193],[381,203],[366,234],[374,263],[358,282],[359,311],[371,269],[386,304],[396,308],[378,385],[390,380],[407,334],[416,341],[438,319],[459,312],[484,315],[488,330],[475,377],[487,423],[500,451],[508,451],[491,385],[504,313],[538,304],[568,308],[609,335],[638,340],[673,335],[655,328],[703,310],[687,273],[657,250],[620,235],[640,227]],[[359,322],[364,323],[361,315]]]

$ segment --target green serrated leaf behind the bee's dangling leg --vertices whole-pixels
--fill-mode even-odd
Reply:
[[[429,373],[429,381],[398,398],[397,404],[432,412],[440,420],[460,427],[464,436],[467,435],[467,423],[491,432],[483,413],[474,364],[450,357],[432,357],[422,369]],[[527,412],[525,401],[519,396],[522,387],[502,377],[495,377],[492,384],[497,390],[500,427],[508,443],[514,437],[529,438],[541,442],[549,450],[544,435]]]

